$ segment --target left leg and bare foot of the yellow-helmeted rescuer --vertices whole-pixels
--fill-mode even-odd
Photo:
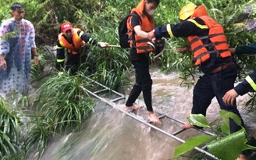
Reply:
[[[193,91],[193,107],[192,114],[202,114],[206,116],[206,110],[214,98],[214,92],[212,89],[211,75],[204,74],[197,81]],[[184,129],[190,129],[194,127],[190,123],[182,125]]]

